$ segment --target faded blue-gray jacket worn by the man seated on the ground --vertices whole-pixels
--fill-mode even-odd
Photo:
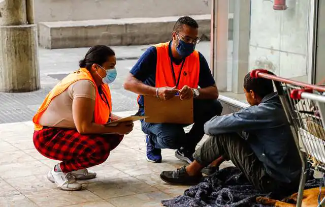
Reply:
[[[215,116],[204,126],[208,135],[241,133],[272,178],[291,183],[301,172],[301,160],[277,93],[257,106]]]

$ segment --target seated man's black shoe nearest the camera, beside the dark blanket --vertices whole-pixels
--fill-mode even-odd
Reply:
[[[202,174],[190,176],[187,174],[185,166],[183,166],[176,171],[161,172],[160,179],[172,185],[196,185],[200,183]]]

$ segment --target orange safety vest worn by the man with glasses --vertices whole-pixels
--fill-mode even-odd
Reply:
[[[175,65],[169,55],[169,43],[155,45],[157,49],[156,87],[174,87],[181,90],[184,85],[197,88],[199,85],[200,58],[194,50],[180,65]]]

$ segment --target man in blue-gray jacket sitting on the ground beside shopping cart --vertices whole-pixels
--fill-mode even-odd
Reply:
[[[197,184],[201,169],[218,159],[231,160],[261,192],[298,190],[301,160],[272,80],[248,73],[244,92],[251,106],[208,121],[204,129],[210,137],[194,153],[194,161],[176,171],[163,171],[162,180]]]

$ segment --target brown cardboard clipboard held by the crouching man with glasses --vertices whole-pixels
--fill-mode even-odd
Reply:
[[[170,100],[144,96],[145,122],[169,124],[193,124],[193,98],[181,100],[175,96]]]

